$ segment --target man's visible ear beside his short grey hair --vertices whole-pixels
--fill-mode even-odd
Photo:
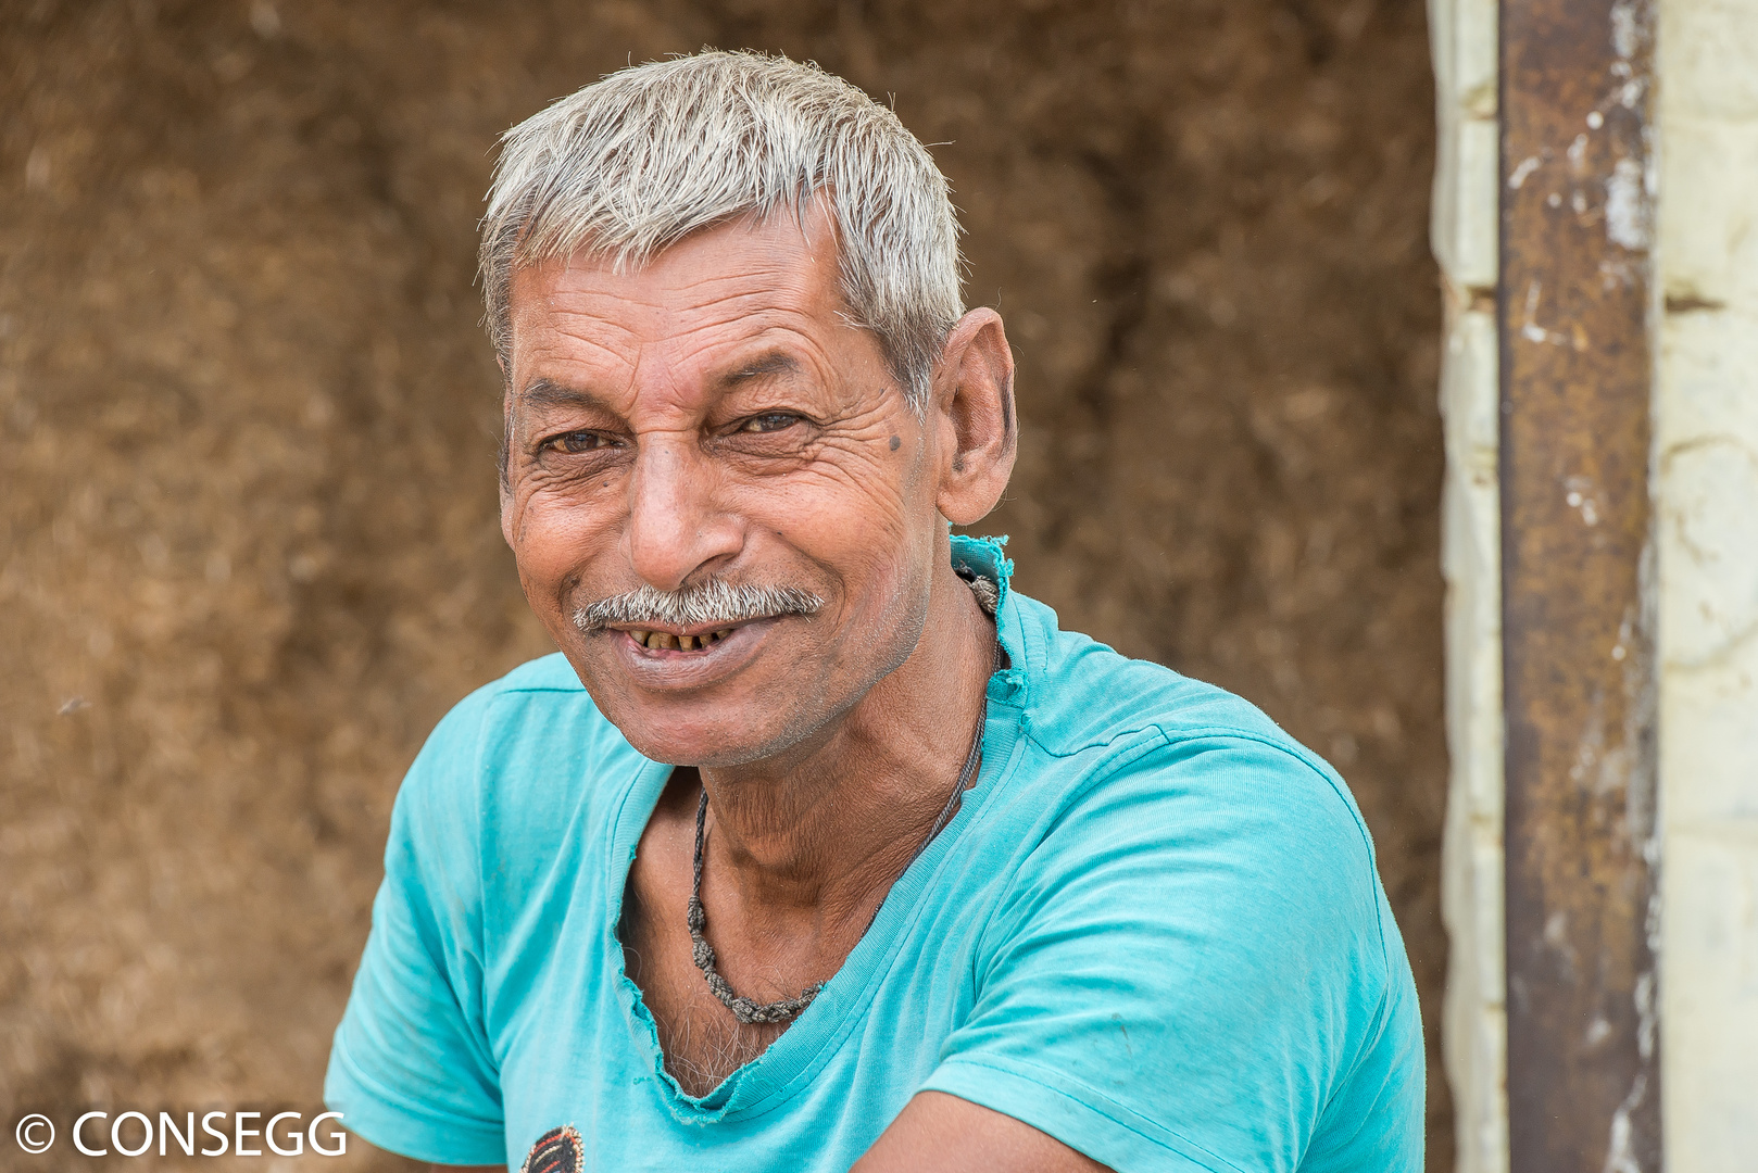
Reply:
[[[972,310],[948,334],[928,413],[941,441],[935,505],[955,526],[972,526],[1000,501],[1018,454],[1013,352],[993,310]]]

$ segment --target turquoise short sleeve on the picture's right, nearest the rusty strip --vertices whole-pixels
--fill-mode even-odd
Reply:
[[[1387,1002],[1373,853],[1340,786],[1248,737],[1162,739],[1090,784],[997,907],[925,1090],[1118,1173],[1301,1168]]]

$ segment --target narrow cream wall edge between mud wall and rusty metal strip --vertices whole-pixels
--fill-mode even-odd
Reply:
[[[1440,142],[1435,255],[1447,324],[1442,570],[1447,579],[1447,746],[1442,848],[1445,1053],[1459,1169],[1507,1168],[1503,960],[1501,540],[1496,419],[1496,0],[1431,0]]]

